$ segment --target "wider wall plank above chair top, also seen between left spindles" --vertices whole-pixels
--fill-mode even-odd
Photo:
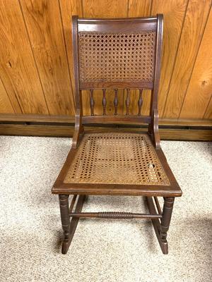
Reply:
[[[85,18],[122,18],[127,16],[128,0],[83,0],[83,16]],[[83,94],[88,101],[88,92]],[[102,91],[95,90],[95,114],[102,114]],[[108,114],[114,113],[113,99],[114,90],[107,90],[106,111]],[[118,92],[118,112],[123,113],[124,90]],[[84,103],[88,104],[88,102]]]

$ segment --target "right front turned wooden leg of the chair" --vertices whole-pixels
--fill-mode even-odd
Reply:
[[[170,227],[170,221],[172,217],[172,209],[174,205],[174,197],[165,197],[163,204],[163,214],[160,225],[160,237],[162,241],[166,241],[167,231]]]

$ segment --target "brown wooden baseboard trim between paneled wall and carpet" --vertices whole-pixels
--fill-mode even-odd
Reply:
[[[147,125],[130,125],[129,123],[98,124],[98,131],[146,131]],[[86,131],[92,130],[90,125]],[[212,140],[211,120],[191,119],[160,119],[159,131],[162,140]],[[23,136],[51,136],[72,137],[74,130],[73,116],[45,116],[45,115],[21,115],[0,114],[0,135]]]

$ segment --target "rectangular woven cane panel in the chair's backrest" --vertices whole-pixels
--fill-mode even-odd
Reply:
[[[79,32],[81,82],[153,82],[155,32]]]

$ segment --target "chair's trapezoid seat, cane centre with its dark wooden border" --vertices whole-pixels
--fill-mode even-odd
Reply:
[[[86,133],[71,151],[53,192],[104,195],[181,195],[162,150],[147,134]],[[123,186],[124,185],[124,186]],[[111,190],[113,187],[113,190]],[[122,188],[121,190],[119,188]],[[95,194],[96,192],[94,192]]]

